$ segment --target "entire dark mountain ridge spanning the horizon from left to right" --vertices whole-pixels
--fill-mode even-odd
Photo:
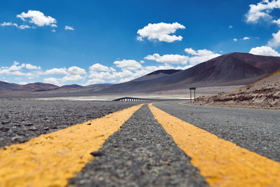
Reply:
[[[229,53],[202,62],[186,70],[153,71],[132,81],[119,84],[64,85],[46,83],[18,85],[0,81],[0,95],[18,93],[51,94],[113,94],[129,92],[158,92],[187,87],[247,85],[280,69],[280,57]]]

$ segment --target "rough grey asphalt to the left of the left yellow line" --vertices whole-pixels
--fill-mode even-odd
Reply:
[[[23,143],[136,104],[139,103],[0,99],[0,147]]]

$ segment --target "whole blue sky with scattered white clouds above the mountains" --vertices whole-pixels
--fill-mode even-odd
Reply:
[[[122,83],[227,53],[280,56],[280,0],[0,1],[0,81]]]

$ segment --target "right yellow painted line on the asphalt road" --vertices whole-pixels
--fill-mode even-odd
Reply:
[[[280,186],[280,163],[149,107],[211,186]]]

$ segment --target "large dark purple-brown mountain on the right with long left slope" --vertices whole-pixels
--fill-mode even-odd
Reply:
[[[148,74],[99,93],[156,92],[188,87],[246,85],[280,69],[280,57],[230,53],[174,74]]]

